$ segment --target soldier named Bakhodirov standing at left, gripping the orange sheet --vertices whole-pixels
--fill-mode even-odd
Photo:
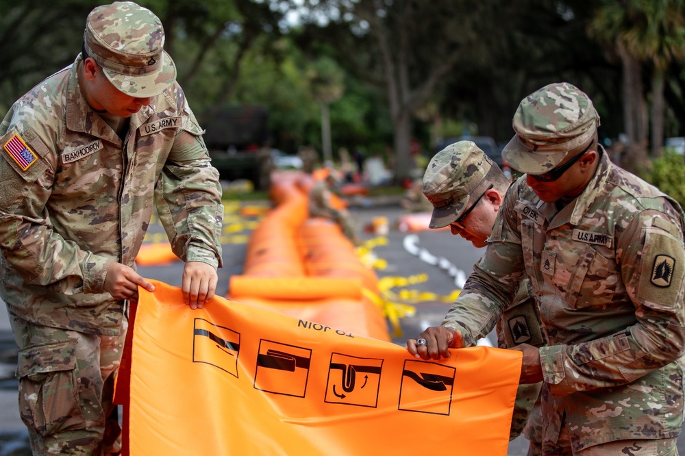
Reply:
[[[135,3],[90,12],[75,62],[0,126],[0,296],[18,344],[21,417],[35,455],[116,454],[114,377],[156,201],[184,260],[184,300],[214,296],[221,186],[166,54]],[[108,420],[110,417],[110,420]]]

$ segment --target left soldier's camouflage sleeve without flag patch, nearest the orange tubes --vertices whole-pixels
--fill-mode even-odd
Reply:
[[[182,129],[155,186],[155,201],[174,253],[184,262],[217,268],[222,266],[221,184],[202,134],[186,103]]]

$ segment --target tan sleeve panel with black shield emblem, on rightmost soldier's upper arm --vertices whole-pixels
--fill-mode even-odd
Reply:
[[[680,239],[661,229],[647,228],[638,297],[673,307],[682,287],[684,256]]]

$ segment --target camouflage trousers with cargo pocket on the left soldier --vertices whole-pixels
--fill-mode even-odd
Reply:
[[[121,335],[45,327],[10,314],[18,345],[19,412],[34,455],[118,455],[112,405],[128,322]]]

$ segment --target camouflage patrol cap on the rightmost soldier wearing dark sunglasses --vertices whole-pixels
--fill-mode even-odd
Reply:
[[[512,127],[516,134],[502,151],[504,161],[522,173],[544,174],[594,138],[599,114],[585,92],[560,82],[525,97]]]

